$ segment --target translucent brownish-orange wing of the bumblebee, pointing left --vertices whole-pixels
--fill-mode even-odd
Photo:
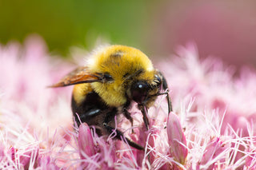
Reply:
[[[90,83],[95,81],[102,81],[102,77],[96,73],[90,73],[86,66],[80,66],[68,73],[62,80],[49,87],[64,87],[67,85],[76,85],[82,83]]]

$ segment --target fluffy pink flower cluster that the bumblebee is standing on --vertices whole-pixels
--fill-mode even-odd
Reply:
[[[50,89],[75,65],[49,56],[40,38],[0,46],[0,169],[254,169],[256,73],[214,58],[198,59],[195,45],[155,66],[170,86],[149,109],[150,130],[132,108],[134,126],[119,117],[126,140],[74,127],[72,87]],[[134,132],[132,132],[132,130]]]

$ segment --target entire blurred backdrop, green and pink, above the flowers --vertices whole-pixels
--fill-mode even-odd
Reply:
[[[98,39],[169,57],[194,42],[200,57],[256,66],[256,1],[234,0],[0,0],[0,43],[30,34],[50,53],[93,49]]]

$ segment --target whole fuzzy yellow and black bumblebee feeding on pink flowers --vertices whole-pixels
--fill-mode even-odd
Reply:
[[[97,50],[87,65],[74,69],[51,87],[74,85],[71,108],[74,121],[94,125],[98,135],[112,133],[114,117],[123,114],[133,126],[129,109],[132,103],[142,112],[149,129],[147,109],[159,95],[166,94],[168,111],[172,110],[166,79],[138,49],[110,45]],[[134,148],[144,148],[116,130],[117,139],[126,139]]]

